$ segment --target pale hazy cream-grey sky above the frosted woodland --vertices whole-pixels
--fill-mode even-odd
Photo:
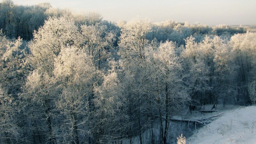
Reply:
[[[256,25],[256,0],[12,0],[17,5],[50,2],[52,7],[98,11],[103,20],[174,20],[203,25]]]

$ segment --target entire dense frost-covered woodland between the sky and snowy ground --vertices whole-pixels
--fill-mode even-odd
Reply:
[[[0,29],[1,144],[167,144],[172,116],[256,101],[250,27],[3,0]]]

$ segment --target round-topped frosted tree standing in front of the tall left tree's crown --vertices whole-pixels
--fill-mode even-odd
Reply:
[[[55,59],[53,73],[62,91],[56,102],[60,143],[85,143],[89,137],[89,94],[95,72],[89,55],[76,47],[63,49]]]

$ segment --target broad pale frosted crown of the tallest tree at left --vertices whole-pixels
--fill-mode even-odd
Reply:
[[[78,27],[69,16],[49,17],[34,33],[28,47],[31,49],[30,63],[35,68],[48,72],[53,70],[54,58],[67,46],[78,44]]]

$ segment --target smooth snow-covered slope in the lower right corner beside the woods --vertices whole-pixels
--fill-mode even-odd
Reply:
[[[256,106],[241,107],[225,113],[197,129],[187,144],[256,144]]]

